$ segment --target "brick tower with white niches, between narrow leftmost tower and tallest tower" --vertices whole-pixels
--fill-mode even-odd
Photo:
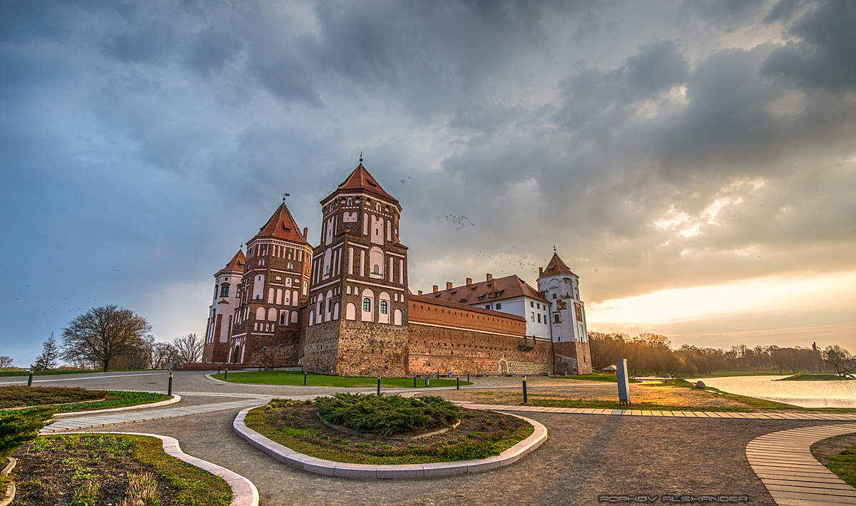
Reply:
[[[247,242],[241,304],[229,340],[229,362],[296,366],[300,361],[300,300],[309,292],[312,246],[280,204]]]

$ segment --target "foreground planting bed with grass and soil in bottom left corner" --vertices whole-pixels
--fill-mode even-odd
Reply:
[[[232,502],[232,489],[225,480],[167,455],[158,438],[43,436],[17,450],[15,458],[15,504],[228,506]]]

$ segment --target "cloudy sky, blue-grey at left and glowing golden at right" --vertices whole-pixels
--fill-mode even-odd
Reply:
[[[288,191],[357,165],[410,288],[553,247],[588,327],[856,351],[856,3],[0,3],[0,355],[86,309],[205,332]]]

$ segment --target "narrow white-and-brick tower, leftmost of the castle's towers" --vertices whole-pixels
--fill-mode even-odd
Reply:
[[[244,274],[244,261],[244,252],[238,250],[226,267],[214,274],[214,298],[208,308],[202,362],[226,362],[229,356],[232,320],[241,300],[238,285]]]

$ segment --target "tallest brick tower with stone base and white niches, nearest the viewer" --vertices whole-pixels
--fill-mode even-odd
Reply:
[[[401,205],[360,165],[321,200],[304,343],[307,371],[407,375],[407,246]]]

